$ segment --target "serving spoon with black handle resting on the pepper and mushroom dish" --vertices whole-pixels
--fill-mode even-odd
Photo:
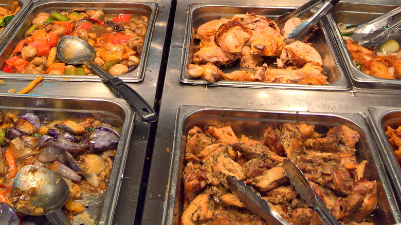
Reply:
[[[99,65],[92,62],[96,57],[96,51],[87,42],[75,36],[63,36],[57,44],[57,57],[67,64],[85,64],[93,73],[97,74],[106,82],[106,85],[117,97],[125,99],[134,107],[143,122],[151,123],[157,120],[155,110],[138,92],[128,86],[120,78],[114,77]]]

